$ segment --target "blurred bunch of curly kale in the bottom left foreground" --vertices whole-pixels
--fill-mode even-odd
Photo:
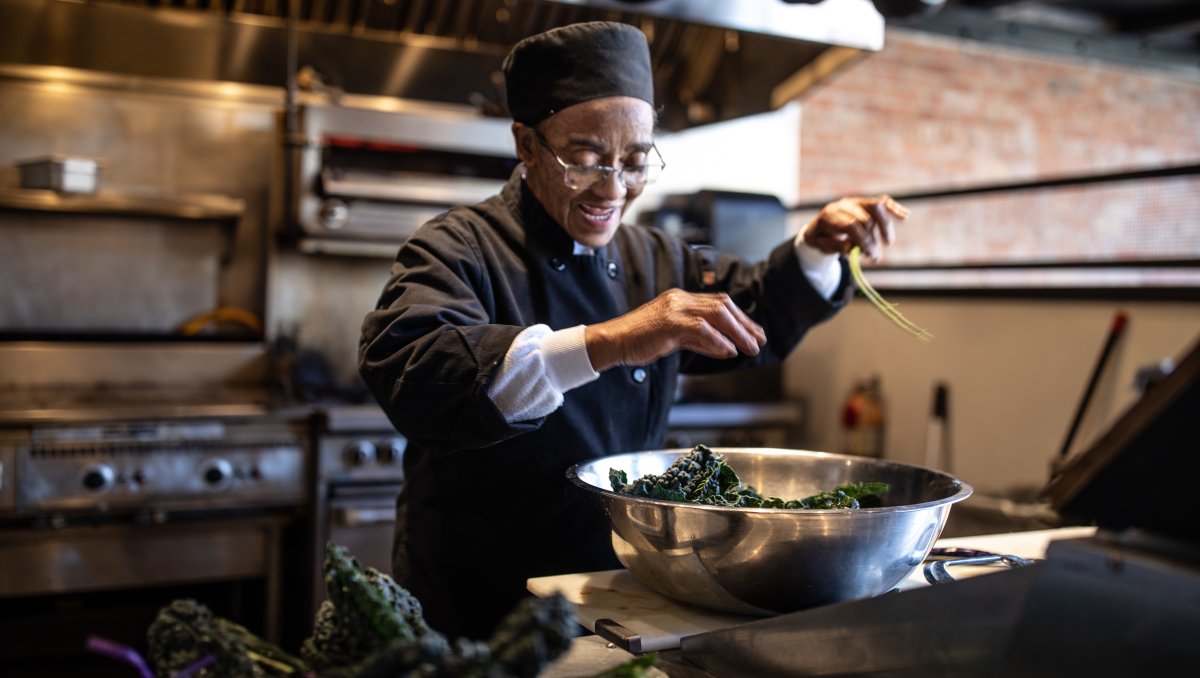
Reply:
[[[194,600],[163,607],[146,631],[158,678],[211,656],[199,678],[533,678],[571,644],[578,622],[563,595],[529,598],[487,641],[448,640],[425,623],[421,604],[344,547],[325,548],[329,599],[300,658]]]

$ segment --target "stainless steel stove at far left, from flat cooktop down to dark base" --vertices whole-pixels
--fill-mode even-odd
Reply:
[[[86,637],[140,648],[176,598],[302,632],[307,413],[269,407],[265,367],[257,344],[0,347],[6,674],[104,676]]]

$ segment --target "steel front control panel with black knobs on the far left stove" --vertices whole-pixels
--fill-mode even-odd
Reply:
[[[16,514],[181,511],[304,499],[296,432],[260,420],[38,426],[14,446]]]

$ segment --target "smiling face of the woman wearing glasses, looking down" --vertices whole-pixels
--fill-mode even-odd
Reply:
[[[654,143],[650,104],[632,97],[598,98],[551,115],[536,131],[516,122],[512,133],[526,164],[526,185],[550,216],[576,242],[593,248],[607,245],[642,188],[626,188],[616,174],[592,186],[570,188],[554,155],[569,164],[644,164]]]

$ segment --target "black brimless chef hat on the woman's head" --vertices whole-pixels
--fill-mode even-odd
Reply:
[[[504,60],[504,82],[509,112],[526,125],[606,96],[654,104],[646,36],[616,22],[570,24],[522,40]]]

